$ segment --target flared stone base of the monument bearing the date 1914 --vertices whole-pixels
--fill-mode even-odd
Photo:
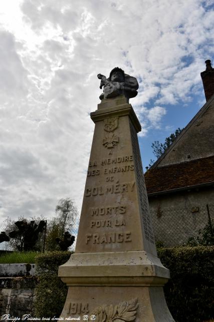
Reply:
[[[163,293],[169,271],[145,251],[73,254],[59,276],[69,286],[64,319],[174,321]]]

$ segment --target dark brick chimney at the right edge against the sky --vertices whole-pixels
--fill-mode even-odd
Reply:
[[[208,59],[205,61],[206,70],[200,73],[203,82],[203,89],[206,98],[206,102],[214,94],[214,68],[211,66],[211,61]]]

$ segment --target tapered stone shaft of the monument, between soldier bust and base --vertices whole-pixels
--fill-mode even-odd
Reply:
[[[91,113],[95,133],[76,253],[156,254],[136,135],[140,124],[130,104],[101,105]]]

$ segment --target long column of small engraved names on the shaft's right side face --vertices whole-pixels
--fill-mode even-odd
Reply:
[[[135,160],[135,171],[137,174],[137,186],[139,191],[139,199],[141,205],[141,213],[143,217],[143,226],[145,232],[145,238],[150,240],[152,244],[154,244],[154,236],[151,228],[151,221],[149,216],[149,207],[148,207],[148,199],[145,187],[145,181],[143,176],[142,162],[140,158],[140,149],[138,145],[137,133],[130,122],[131,129],[131,140],[132,140],[132,149]]]

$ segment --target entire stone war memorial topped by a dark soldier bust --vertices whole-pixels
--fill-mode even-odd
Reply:
[[[174,321],[163,293],[169,271],[157,258],[129,99],[135,77],[115,67],[101,80],[75,254],[59,267],[68,286],[61,316],[98,322]]]

